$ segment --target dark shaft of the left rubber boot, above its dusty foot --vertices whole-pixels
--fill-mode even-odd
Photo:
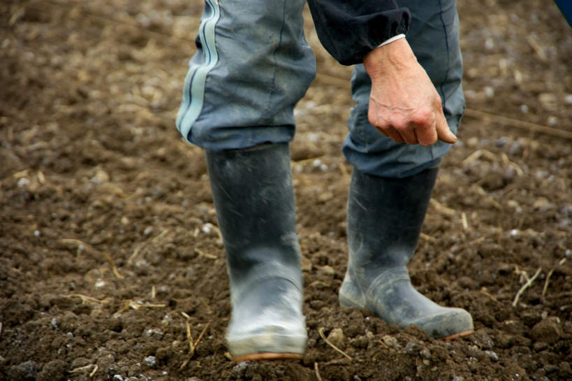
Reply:
[[[230,281],[269,263],[298,268],[288,144],[206,151],[206,158]]]

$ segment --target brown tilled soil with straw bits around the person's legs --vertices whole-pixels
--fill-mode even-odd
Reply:
[[[451,342],[338,306],[351,69],[307,22],[318,76],[291,148],[308,349],[239,364],[203,153],[174,127],[201,10],[0,3],[1,380],[572,379],[572,29],[551,2],[459,3],[467,115],[409,266],[473,315]]]

